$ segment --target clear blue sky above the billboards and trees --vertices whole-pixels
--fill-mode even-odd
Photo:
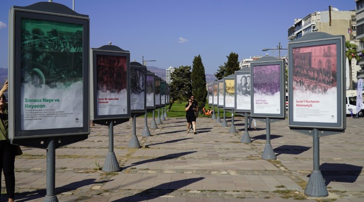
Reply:
[[[39,1],[3,0],[0,3],[0,67],[8,67],[8,23],[12,6]],[[45,1],[47,2],[47,1]],[[72,0],[55,0],[72,9]],[[192,66],[201,55],[206,74],[214,74],[231,52],[239,60],[265,55],[278,57],[281,41],[287,48],[287,29],[295,18],[333,6],[355,10],[354,0],[240,1],[240,0],[74,0],[75,11],[90,18],[90,47],[111,41],[130,51],[130,60],[148,66]],[[282,50],[281,56],[287,55]]]

